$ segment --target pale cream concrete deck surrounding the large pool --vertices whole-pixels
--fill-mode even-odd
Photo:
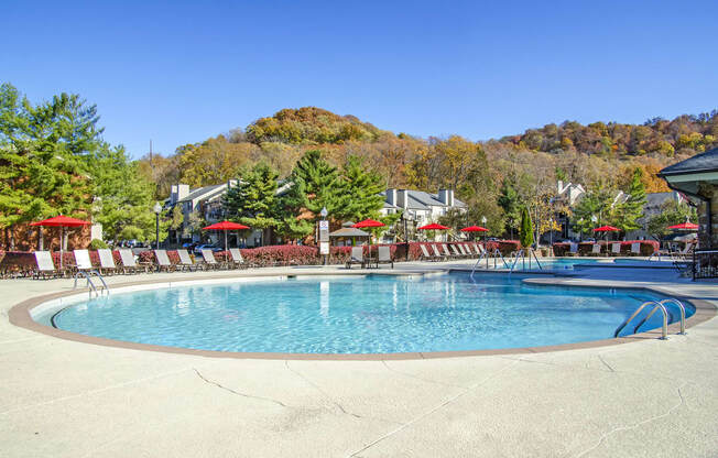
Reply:
[[[400,263],[395,271],[470,264]],[[316,271],[342,270],[257,272]],[[581,272],[594,280],[553,280],[661,285],[675,295],[718,301],[718,284],[690,283],[673,271],[594,271],[599,269]],[[113,276],[108,283],[236,273]],[[72,283],[0,281],[0,456],[718,455],[716,318],[667,341],[383,361],[139,351],[58,339],[9,323],[15,304],[68,291]]]

